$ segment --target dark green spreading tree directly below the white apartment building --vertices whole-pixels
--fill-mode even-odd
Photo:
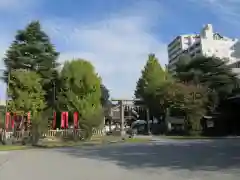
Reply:
[[[239,84],[226,60],[216,57],[183,57],[176,66],[176,78],[181,82],[203,85],[208,88],[208,109],[214,110]]]

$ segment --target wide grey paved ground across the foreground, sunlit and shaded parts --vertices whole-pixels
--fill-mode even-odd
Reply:
[[[0,152],[1,180],[239,180],[240,140]]]

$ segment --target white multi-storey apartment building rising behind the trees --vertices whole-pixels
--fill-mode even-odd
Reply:
[[[213,31],[211,24],[207,24],[200,34],[180,35],[168,45],[168,69],[174,73],[175,64],[181,55],[187,54],[194,58],[198,55],[215,56],[227,59],[229,65],[236,63],[239,58],[234,57],[234,46],[237,39],[231,39]]]

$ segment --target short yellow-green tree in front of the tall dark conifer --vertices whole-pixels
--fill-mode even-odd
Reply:
[[[41,119],[45,108],[44,90],[41,86],[41,77],[33,71],[18,69],[11,71],[9,82],[10,112],[18,112],[19,115],[31,113],[32,143],[35,145],[40,137],[47,121]]]

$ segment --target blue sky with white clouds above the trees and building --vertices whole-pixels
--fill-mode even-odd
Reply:
[[[0,0],[0,58],[16,30],[40,20],[60,62],[91,61],[111,96],[126,98],[133,96],[148,53],[164,66],[166,45],[175,36],[211,23],[215,31],[238,37],[239,19],[239,0]]]

